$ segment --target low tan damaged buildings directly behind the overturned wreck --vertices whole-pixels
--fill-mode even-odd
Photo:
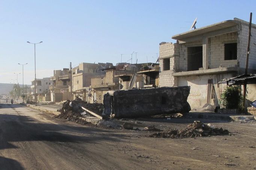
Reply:
[[[151,66],[145,67],[145,66]],[[142,69],[145,67],[144,69]],[[157,87],[159,82],[158,64],[117,63],[116,66],[104,69],[105,75],[92,78],[90,102],[103,103],[103,95],[110,90]]]

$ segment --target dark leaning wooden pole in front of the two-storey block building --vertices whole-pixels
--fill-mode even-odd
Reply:
[[[253,13],[250,13],[250,22],[249,22],[249,34],[248,34],[248,44],[247,44],[247,53],[246,53],[246,65],[245,65],[245,72],[246,75],[248,72],[248,60],[249,60],[249,54],[250,54],[250,42],[251,42],[251,19],[252,19]],[[245,109],[245,101],[246,101],[246,88],[247,88],[247,81],[244,81],[243,85],[244,91],[243,91],[243,107]]]

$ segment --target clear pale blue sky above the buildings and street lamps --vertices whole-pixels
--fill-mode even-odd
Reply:
[[[249,21],[256,1],[171,0],[1,0],[0,83],[16,79],[24,66],[24,84],[34,78],[36,45],[37,78],[53,76],[53,70],[79,63],[116,64],[138,52],[138,63],[157,60],[160,42],[196,27],[228,19]],[[135,58],[135,55],[133,55]],[[133,60],[135,62],[135,60]],[[18,82],[22,84],[22,76]]]

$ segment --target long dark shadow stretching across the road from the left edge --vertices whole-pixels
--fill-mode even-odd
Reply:
[[[114,134],[113,131],[100,128],[43,123],[30,116],[0,114],[0,149],[17,148],[10,142],[100,143],[102,140],[120,141],[123,137],[124,134]]]

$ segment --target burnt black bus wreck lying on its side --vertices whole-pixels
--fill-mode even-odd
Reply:
[[[190,86],[109,91],[104,94],[103,117],[129,118],[187,113]]]

